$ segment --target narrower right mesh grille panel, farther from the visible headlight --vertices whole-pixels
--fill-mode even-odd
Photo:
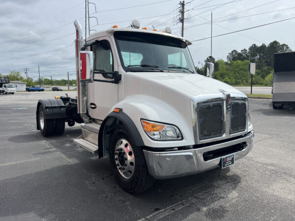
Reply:
[[[230,133],[234,134],[246,130],[247,126],[247,104],[246,101],[231,101],[231,129]]]

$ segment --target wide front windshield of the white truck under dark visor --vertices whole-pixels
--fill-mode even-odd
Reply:
[[[121,64],[125,71],[195,73],[184,41],[150,33],[116,31]]]

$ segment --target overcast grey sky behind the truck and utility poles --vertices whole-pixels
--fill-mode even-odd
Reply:
[[[113,25],[126,28],[137,19],[141,28],[166,27],[180,35],[179,0],[89,0],[90,33]],[[94,4],[93,4],[94,3]],[[210,55],[210,39],[199,39],[295,17],[294,0],[186,0],[184,38],[195,66]],[[96,18],[94,18],[96,17]],[[75,28],[85,38],[85,0],[0,0],[0,73],[20,71],[26,77],[70,79],[75,76]],[[212,56],[224,59],[232,50],[277,40],[295,50],[295,19],[212,38]],[[87,28],[88,36],[88,28]],[[200,63],[199,63],[200,62]]]

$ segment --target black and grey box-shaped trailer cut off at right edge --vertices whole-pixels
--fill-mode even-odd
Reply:
[[[295,52],[274,54],[272,107],[283,109],[295,104]]]

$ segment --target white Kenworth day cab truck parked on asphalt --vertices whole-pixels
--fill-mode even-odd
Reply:
[[[87,41],[78,20],[75,28],[77,98],[38,101],[43,136],[62,134],[65,122],[81,123],[74,143],[109,157],[129,193],[147,190],[154,179],[231,166],[251,151],[246,95],[197,74],[190,41],[171,28],[140,29],[137,21]]]

